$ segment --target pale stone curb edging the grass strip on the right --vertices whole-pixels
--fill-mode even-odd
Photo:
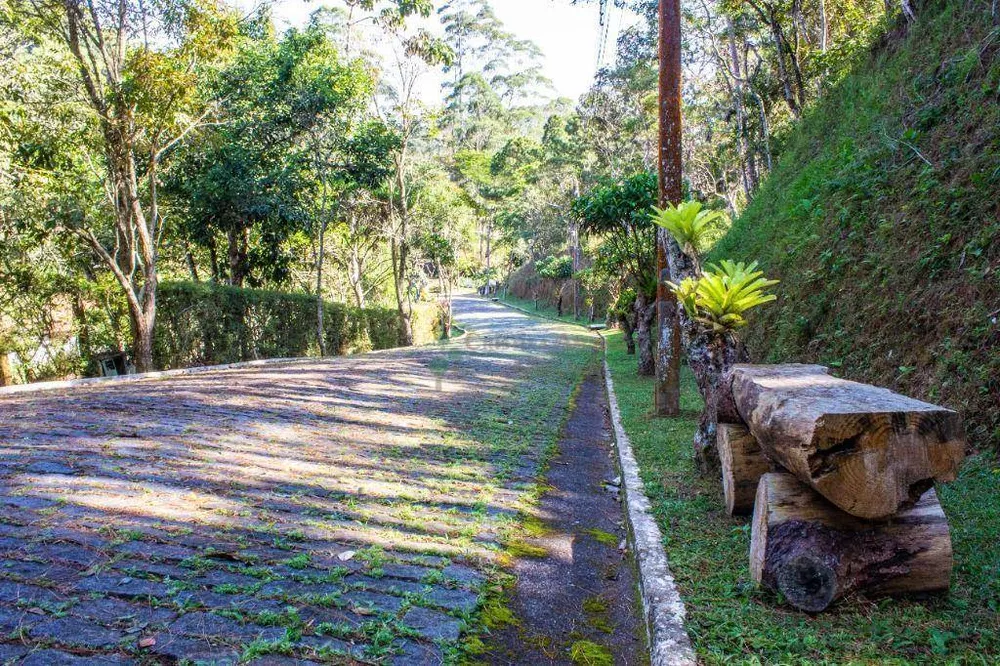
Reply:
[[[618,463],[625,490],[625,515],[635,559],[639,565],[639,587],[642,592],[643,615],[649,639],[650,663],[653,666],[690,666],[697,664],[691,639],[684,628],[684,601],[670,573],[667,554],[663,549],[663,534],[650,512],[649,498],[639,478],[639,464],[632,452],[632,443],[622,425],[618,398],[608,367],[608,341],[603,335],[604,379],[608,391],[608,407],[615,431]]]

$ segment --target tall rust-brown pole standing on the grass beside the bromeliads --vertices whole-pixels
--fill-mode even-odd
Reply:
[[[681,201],[681,3],[660,0],[660,206]],[[667,287],[667,232],[656,231],[657,416],[680,413],[681,331],[677,297]]]

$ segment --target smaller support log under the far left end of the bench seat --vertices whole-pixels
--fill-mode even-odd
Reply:
[[[753,513],[757,483],[761,476],[773,471],[773,465],[746,426],[720,423],[718,443],[726,511],[731,516]]]

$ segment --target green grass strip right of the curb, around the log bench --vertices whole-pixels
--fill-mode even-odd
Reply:
[[[635,372],[620,333],[608,365],[622,421],[641,468],[670,568],[687,606],[688,631],[709,664],[994,664],[1000,660],[1000,465],[966,461],[939,488],[951,523],[951,593],[925,600],[849,597],[808,615],[756,589],[748,519],[731,518],[721,481],[699,476],[691,440],[701,400],[685,368],[683,415],[650,416],[653,381]]]

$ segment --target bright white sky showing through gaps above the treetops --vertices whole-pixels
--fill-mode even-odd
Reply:
[[[243,7],[251,0],[238,0]],[[440,4],[440,3],[436,3]],[[545,56],[543,65],[556,96],[576,100],[590,87],[598,69],[600,42],[597,2],[571,5],[570,0],[492,0],[493,10],[510,32],[535,42]],[[279,28],[300,26],[322,6],[342,6],[336,0],[276,0],[273,14]],[[609,2],[609,29],[604,64],[614,61],[615,39],[622,27],[634,21]],[[437,85],[428,82],[424,96],[437,97]]]

